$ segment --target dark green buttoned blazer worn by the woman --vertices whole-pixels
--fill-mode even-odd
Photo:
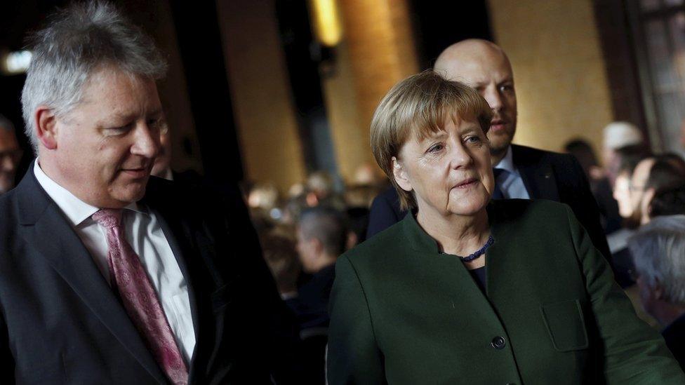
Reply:
[[[330,384],[685,384],[568,206],[488,217],[487,295],[411,213],[338,259]]]

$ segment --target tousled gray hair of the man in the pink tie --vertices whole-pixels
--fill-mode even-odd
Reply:
[[[22,112],[36,154],[33,115],[39,105],[64,116],[81,101],[88,77],[105,66],[154,80],[166,74],[166,60],[154,41],[102,1],[58,11],[31,36],[29,49],[33,55],[22,91]]]

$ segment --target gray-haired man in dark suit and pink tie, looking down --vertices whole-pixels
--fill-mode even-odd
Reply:
[[[88,2],[32,50],[22,108],[38,158],[0,196],[0,382],[278,379],[283,305],[243,203],[217,210],[150,177],[166,72],[152,39]]]

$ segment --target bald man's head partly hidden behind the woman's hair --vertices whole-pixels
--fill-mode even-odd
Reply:
[[[434,70],[447,79],[466,83],[487,100],[493,111],[488,138],[493,165],[507,154],[516,133],[516,92],[509,58],[495,43],[467,39],[447,47]]]

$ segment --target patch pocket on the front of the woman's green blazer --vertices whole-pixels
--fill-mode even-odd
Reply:
[[[540,306],[554,349],[574,351],[587,349],[587,330],[580,301],[565,301]]]

